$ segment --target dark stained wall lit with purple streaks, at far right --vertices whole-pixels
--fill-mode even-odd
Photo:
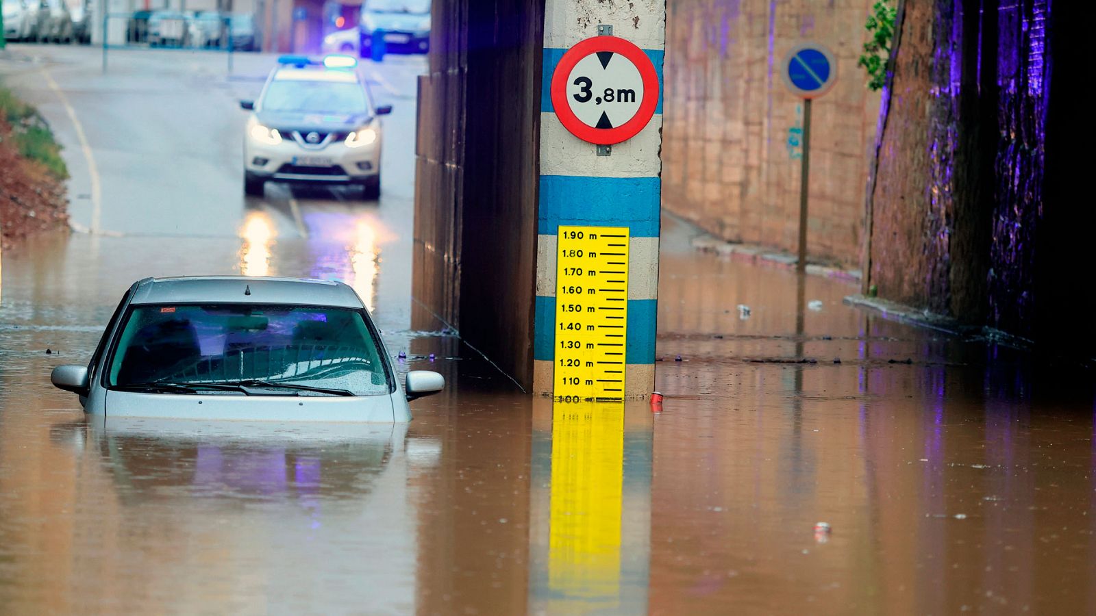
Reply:
[[[1063,331],[1070,308],[1096,308],[1078,278],[1094,208],[1082,205],[1092,198],[1071,152],[1085,124],[1073,111],[1081,76],[1092,75],[1074,59],[1085,36],[1071,32],[1092,12],[1081,4],[1089,3],[905,2],[869,199],[870,282],[881,297],[1075,342],[1051,332]],[[1075,329],[1096,341],[1089,320]]]

